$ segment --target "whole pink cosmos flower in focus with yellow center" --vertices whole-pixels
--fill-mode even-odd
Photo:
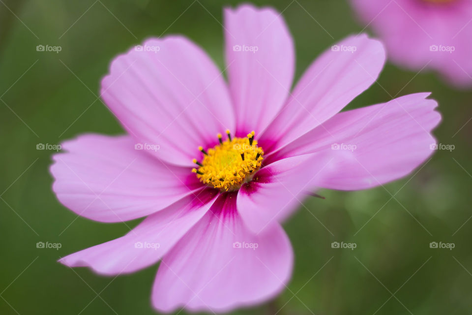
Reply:
[[[433,152],[441,119],[428,93],[338,113],[383,67],[382,44],[366,35],[338,43],[356,49],[324,52],[290,93],[294,44],[280,15],[241,5],[225,10],[224,27],[228,83],[190,40],[149,39],[102,80],[128,134],[67,141],[51,167],[60,202],[78,215],[146,217],[60,262],[117,275],[160,261],[151,299],[162,312],[274,297],[293,265],[280,222],[302,198],[406,176]]]

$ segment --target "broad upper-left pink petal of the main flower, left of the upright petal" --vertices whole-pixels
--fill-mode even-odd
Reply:
[[[192,166],[201,156],[198,146],[216,144],[217,133],[235,128],[223,75],[184,37],[148,39],[138,49],[112,62],[101,95],[139,142],[159,145],[147,153]]]

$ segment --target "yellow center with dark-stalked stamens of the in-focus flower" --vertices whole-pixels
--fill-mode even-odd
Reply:
[[[226,133],[228,139],[223,141],[221,134],[218,134],[220,143],[213,148],[207,151],[202,147],[198,148],[204,156],[201,162],[193,159],[200,167],[192,169],[192,172],[207,186],[221,191],[234,191],[251,181],[261,168],[264,150],[257,146],[254,131],[247,138],[232,139],[230,131],[226,130]]]

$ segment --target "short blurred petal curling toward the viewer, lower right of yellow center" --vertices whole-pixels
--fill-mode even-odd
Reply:
[[[262,168],[237,194],[237,210],[247,227],[260,233],[272,221],[286,219],[302,205],[306,193],[314,191],[316,183],[323,183],[332,160],[327,155],[310,154]]]

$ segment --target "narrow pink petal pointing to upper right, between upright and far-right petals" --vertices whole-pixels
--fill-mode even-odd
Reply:
[[[382,44],[365,34],[332,46],[303,74],[261,141],[281,147],[322,124],[375,82],[384,61]]]

